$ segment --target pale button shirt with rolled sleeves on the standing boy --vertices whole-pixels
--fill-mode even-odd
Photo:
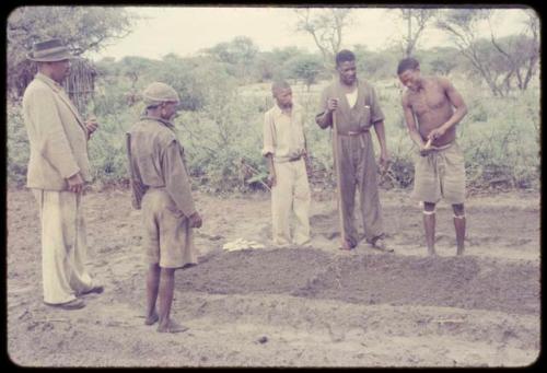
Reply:
[[[291,113],[283,113],[278,105],[264,115],[263,155],[271,153],[274,162],[282,163],[302,155],[305,151],[304,113],[293,104]]]

